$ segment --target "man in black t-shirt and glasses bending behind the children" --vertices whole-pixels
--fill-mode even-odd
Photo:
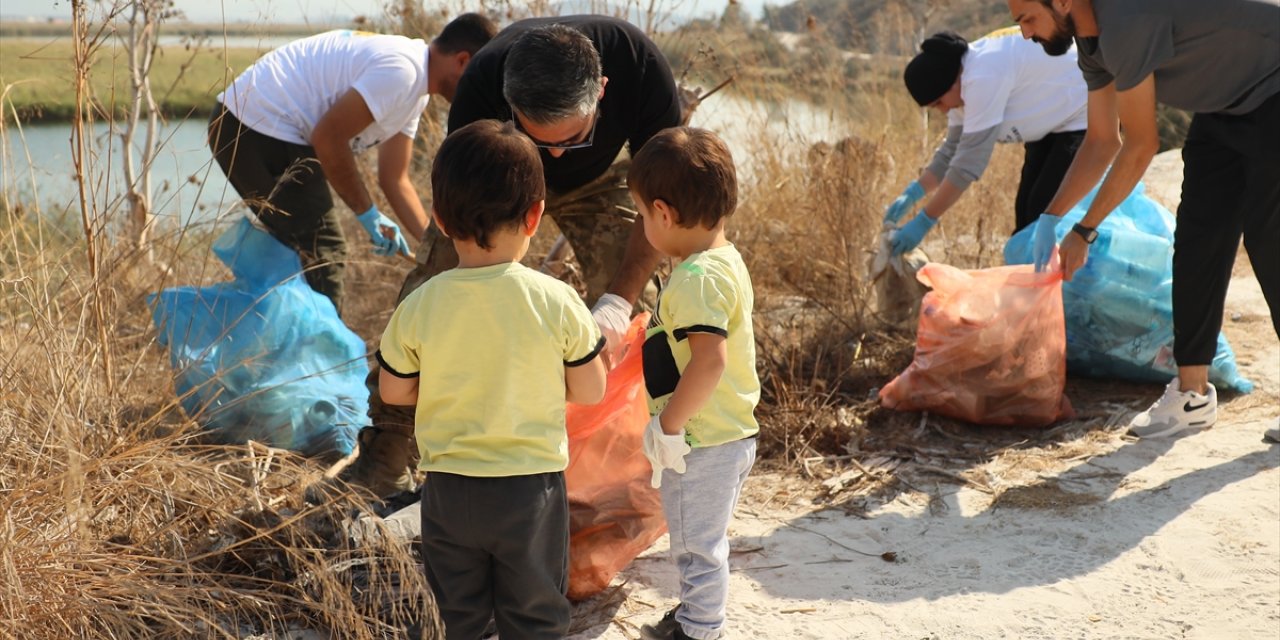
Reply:
[[[547,214],[573,248],[591,315],[616,347],[659,255],[635,220],[630,155],[681,122],[671,67],[639,28],[603,15],[520,20],[471,58],[449,109],[449,131],[481,119],[512,120],[538,145]],[[399,300],[458,264],[430,225]],[[466,339],[460,337],[458,339]],[[518,355],[513,356],[518,357]],[[370,376],[374,426],[344,480],[385,495],[417,465],[413,407],[383,404]]]

